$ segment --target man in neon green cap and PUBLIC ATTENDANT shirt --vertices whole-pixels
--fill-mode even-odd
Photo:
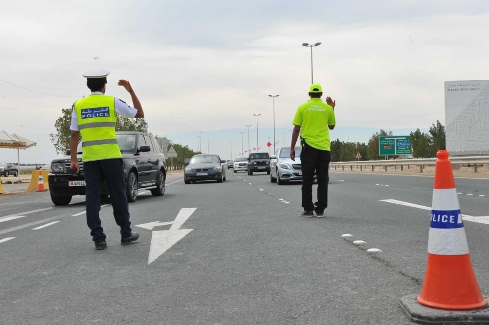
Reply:
[[[295,143],[301,137],[302,168],[302,207],[301,217],[324,217],[328,207],[328,169],[331,161],[329,130],[336,125],[334,106],[336,101],[331,97],[323,103],[321,85],[312,84],[309,88],[311,100],[297,108],[292,124],[290,159],[295,161]],[[312,182],[314,171],[317,176],[317,202],[312,203]]]

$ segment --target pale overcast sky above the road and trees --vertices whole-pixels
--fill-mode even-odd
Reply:
[[[21,163],[48,163],[62,108],[89,94],[83,72],[111,71],[106,94],[131,103],[149,131],[230,159],[290,145],[313,80],[337,103],[331,139],[368,142],[445,125],[444,81],[489,79],[489,1],[3,1],[0,130],[36,141]],[[240,132],[245,132],[243,135]],[[402,133],[402,134],[401,134]],[[209,139],[209,140],[207,140]],[[0,149],[0,161],[17,151]]]

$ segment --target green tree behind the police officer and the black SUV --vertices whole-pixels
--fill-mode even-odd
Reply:
[[[54,150],[57,154],[66,152],[69,148],[70,130],[71,124],[71,110],[72,108],[62,108],[62,116],[54,122],[56,133],[49,134],[49,139],[54,146]],[[148,132],[148,122],[144,119],[130,119],[128,117],[117,115],[117,121],[115,122],[116,131],[140,131]]]

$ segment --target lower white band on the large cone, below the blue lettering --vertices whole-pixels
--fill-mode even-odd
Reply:
[[[465,228],[430,228],[428,235],[428,253],[436,255],[468,254]]]

